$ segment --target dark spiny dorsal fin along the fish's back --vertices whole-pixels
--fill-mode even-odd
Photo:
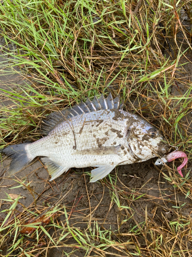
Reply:
[[[93,101],[88,98],[86,102],[81,101],[81,103],[74,105],[72,108],[63,109],[61,112],[53,112],[49,114],[41,122],[41,131],[44,135],[47,135],[60,122],[84,113],[122,108],[123,103],[120,103],[119,96],[113,99],[111,92],[107,98],[104,98],[103,94],[99,98],[94,96]]]

